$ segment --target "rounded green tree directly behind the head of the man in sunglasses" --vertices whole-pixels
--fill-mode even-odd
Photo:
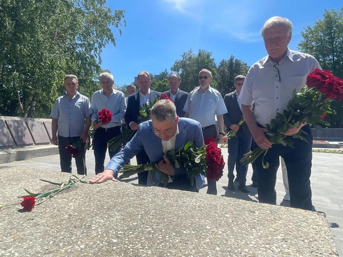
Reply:
[[[184,52],[180,60],[176,60],[171,71],[180,74],[181,84],[180,89],[186,92],[192,91],[199,86],[198,75],[202,69],[208,69],[212,73],[212,77],[217,76],[217,65],[214,58],[211,58],[212,53],[200,49],[198,54],[194,54],[192,49]],[[217,82],[215,79],[211,82],[211,87],[216,88]]]

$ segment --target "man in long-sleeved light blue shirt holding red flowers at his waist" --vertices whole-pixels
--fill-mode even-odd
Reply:
[[[96,91],[92,96],[92,122],[96,129],[94,134],[94,157],[95,157],[95,174],[104,171],[104,161],[108,148],[108,141],[121,133],[122,119],[126,111],[125,96],[122,92],[113,89],[113,75],[108,72],[99,75],[100,85],[103,89]],[[103,108],[110,110],[112,120],[109,123],[97,123],[98,112]],[[109,157],[112,158],[119,149],[110,151]]]

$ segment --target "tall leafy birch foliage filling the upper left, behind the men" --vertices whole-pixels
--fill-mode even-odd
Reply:
[[[79,91],[99,89],[100,54],[121,35],[124,10],[105,0],[19,0],[0,3],[0,114],[47,117],[75,74]],[[123,25],[126,25],[123,20]]]

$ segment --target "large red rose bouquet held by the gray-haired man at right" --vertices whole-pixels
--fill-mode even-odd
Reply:
[[[302,88],[299,93],[293,91],[293,97],[287,104],[287,110],[283,113],[276,113],[275,119],[267,124],[267,137],[272,144],[282,144],[294,148],[293,138],[305,140],[303,134],[306,134],[302,129],[297,134],[286,136],[285,133],[289,128],[297,128],[301,123],[306,122],[312,124],[313,127],[321,129],[319,124],[330,125],[324,121],[326,113],[332,113],[330,102],[332,100],[343,100],[343,80],[335,77],[331,72],[316,69],[308,74],[306,79],[306,87]],[[248,152],[240,160],[243,165],[253,163],[263,152],[267,154],[268,149],[260,147]],[[262,158],[262,166],[267,169],[269,163],[264,164]]]

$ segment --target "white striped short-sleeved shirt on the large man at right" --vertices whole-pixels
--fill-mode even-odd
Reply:
[[[266,56],[249,69],[239,101],[243,105],[255,103],[254,120],[265,126],[275,119],[276,112],[287,108],[294,89],[298,93],[316,68],[321,69],[318,61],[306,53],[287,49],[279,63]]]

